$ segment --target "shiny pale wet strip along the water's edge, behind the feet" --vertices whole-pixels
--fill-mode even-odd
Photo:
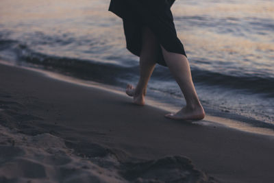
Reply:
[[[118,86],[111,86],[108,84],[101,84],[98,82],[93,82],[90,80],[82,80],[79,78],[71,77],[69,75],[64,75],[62,73],[55,73],[53,71],[48,71],[45,69],[38,69],[38,68],[32,68],[29,66],[18,66],[17,64],[12,64],[10,62],[0,60],[0,64],[8,65],[8,66],[15,66],[20,69],[26,69],[29,71],[34,71],[36,73],[40,73],[44,75],[45,77],[52,78],[53,80],[59,80],[61,82],[68,82],[71,84],[76,84],[79,86],[86,86],[90,88],[99,88],[101,90],[108,91],[110,93],[114,93],[116,95],[121,95],[124,97],[127,97],[125,95],[125,91],[123,91],[123,88],[120,88]],[[179,108],[174,108],[169,103],[160,103],[158,101],[153,100],[151,97],[146,97],[146,106],[151,106],[153,108],[158,108],[160,110],[165,110],[166,113],[168,112],[176,112],[179,110]],[[206,110],[210,110],[210,112],[207,112],[206,117],[203,119],[204,125],[212,125],[212,126],[223,126],[223,127],[229,127],[234,130],[240,130],[242,132],[250,132],[253,134],[262,134],[266,136],[274,136],[274,129],[269,129],[266,127],[260,127],[251,125],[250,123],[247,123],[247,121],[256,121],[256,119],[249,119],[247,117],[242,117],[238,114],[232,114],[232,113],[225,113],[225,112],[216,112],[215,110],[212,110],[210,108],[206,108]],[[208,114],[209,113],[209,114]],[[221,122],[221,123],[220,123]],[[192,122],[192,123],[201,123],[199,122]],[[260,123],[262,123],[260,121]],[[264,123],[264,122],[263,122]]]

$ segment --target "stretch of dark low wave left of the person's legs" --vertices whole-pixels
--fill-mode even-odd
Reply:
[[[8,51],[12,51],[16,55],[16,62],[18,64],[32,64],[30,66],[57,71],[84,80],[93,80],[105,84],[119,84],[117,78],[130,78],[138,72],[134,67],[125,69],[118,64],[103,63],[96,60],[49,56],[43,53],[37,53],[29,49],[27,45],[12,40],[0,40],[0,48],[3,44],[5,45],[5,49],[7,49],[8,46],[10,47]]]

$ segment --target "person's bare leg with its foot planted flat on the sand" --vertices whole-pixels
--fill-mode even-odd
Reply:
[[[164,60],[186,99],[186,106],[184,108],[175,114],[166,114],[166,117],[171,119],[203,119],[205,112],[192,82],[188,59],[182,54],[166,51],[162,45],[161,48]]]

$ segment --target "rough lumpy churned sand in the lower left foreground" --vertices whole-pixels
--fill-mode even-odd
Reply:
[[[29,136],[0,126],[0,134],[0,182],[214,182],[182,156],[131,162],[122,160],[123,151],[65,143],[48,133]]]

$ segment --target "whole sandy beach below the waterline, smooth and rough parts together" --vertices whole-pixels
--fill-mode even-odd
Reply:
[[[274,180],[271,135],[173,121],[109,88],[21,66],[0,64],[0,78],[0,182]]]

